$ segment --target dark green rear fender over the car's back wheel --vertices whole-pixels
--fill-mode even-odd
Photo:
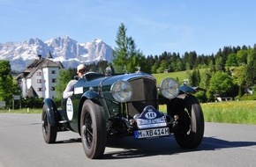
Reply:
[[[56,103],[52,98],[45,98],[42,103],[47,107],[46,113],[48,116],[47,118],[48,118],[49,125],[55,126],[55,119],[56,119],[55,113],[57,112]]]

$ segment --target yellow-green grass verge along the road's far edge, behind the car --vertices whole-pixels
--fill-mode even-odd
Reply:
[[[256,100],[201,104],[206,122],[256,125]],[[160,111],[166,112],[165,105]],[[41,113],[41,109],[0,110],[0,113]]]

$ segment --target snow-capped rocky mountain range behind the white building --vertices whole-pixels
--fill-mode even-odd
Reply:
[[[52,55],[53,61],[60,61],[65,68],[74,68],[79,63],[92,63],[101,60],[111,62],[113,49],[102,40],[78,43],[69,37],[57,37],[42,41],[30,39],[22,42],[0,44],[0,59],[11,62],[11,69],[22,71],[38,59],[38,55]]]

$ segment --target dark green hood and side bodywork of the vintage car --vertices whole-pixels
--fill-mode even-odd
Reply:
[[[70,128],[72,131],[79,132],[79,114],[83,105],[83,102],[87,99],[86,93],[90,87],[94,88],[94,91],[99,94],[102,98],[97,98],[103,106],[105,117],[108,118],[110,115],[116,115],[119,112],[120,104],[113,102],[113,98],[110,92],[111,85],[118,80],[129,81],[138,77],[149,77],[154,79],[147,73],[132,73],[118,76],[101,76],[96,73],[89,73],[83,78],[79,79],[78,83],[75,84],[75,88],[83,87],[83,93],[72,95],[73,104],[73,118],[70,120]],[[155,79],[154,79],[155,80]],[[107,100],[106,100],[107,99]],[[65,113],[65,106],[63,105],[63,112]],[[66,114],[66,113],[65,113]]]

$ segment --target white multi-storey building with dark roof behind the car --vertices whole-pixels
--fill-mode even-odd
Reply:
[[[36,97],[36,98],[54,98],[56,77],[59,69],[64,69],[61,62],[53,62],[49,53],[48,58],[42,58],[38,55],[39,59],[34,60],[24,71],[21,73],[17,80],[21,87],[21,96]]]

